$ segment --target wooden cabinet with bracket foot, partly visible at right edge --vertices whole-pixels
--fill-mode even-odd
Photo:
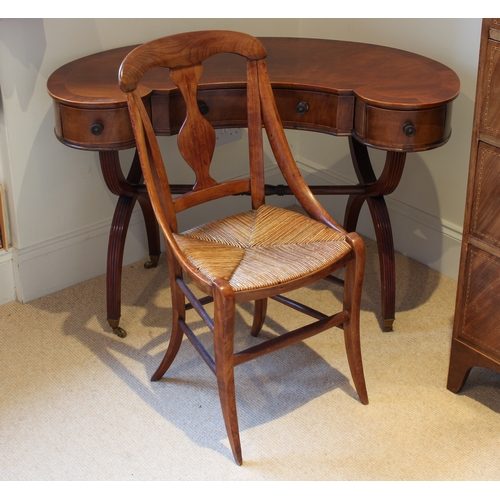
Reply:
[[[500,19],[483,19],[464,235],[448,373],[500,372]]]

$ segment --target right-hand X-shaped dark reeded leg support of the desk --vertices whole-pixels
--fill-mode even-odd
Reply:
[[[356,175],[360,185],[365,187],[365,192],[349,196],[344,217],[344,227],[347,231],[356,229],[361,207],[366,201],[375,228],[379,253],[384,329],[391,331],[395,319],[396,263],[391,220],[384,195],[392,193],[399,184],[403,174],[406,153],[389,151],[384,170],[377,179],[367,147],[352,137],[349,138],[349,146]]]

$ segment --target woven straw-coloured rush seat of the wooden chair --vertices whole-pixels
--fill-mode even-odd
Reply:
[[[345,235],[302,214],[262,205],[175,236],[207,278],[242,291],[284,283],[322,269],[351,250]]]

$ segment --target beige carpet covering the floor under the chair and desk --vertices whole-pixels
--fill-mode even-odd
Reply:
[[[123,340],[109,333],[104,277],[0,307],[0,479],[500,479],[500,374],[474,368],[461,394],[446,390],[456,283],[397,255],[397,320],[384,333],[367,243],[370,404],[353,390],[339,330],[242,365],[242,467],[215,379],[188,341],[167,378],[149,381],[169,330],[163,256],[156,269],[124,269]],[[326,283],[305,294],[326,307],[339,296]],[[299,321],[271,303],[263,335],[281,332],[284,318]],[[238,344],[253,342],[248,307],[238,322]]]

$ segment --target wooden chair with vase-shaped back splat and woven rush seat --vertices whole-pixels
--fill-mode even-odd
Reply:
[[[216,181],[210,173],[215,132],[201,115],[196,91],[202,62],[220,52],[247,59],[249,177]],[[163,361],[152,376],[159,380],[173,362],[183,334],[194,344],[217,377],[224,422],[234,458],[242,463],[236,413],[234,367],[263,354],[316,335],[334,326],[343,328],[354,385],[368,403],[359,339],[359,309],[365,248],[356,233],[347,234],[309,190],[292,157],[274,102],[264,59],[264,46],[252,36],[231,31],[201,31],[160,38],[135,48],[122,62],[121,89],[128,107],[147,190],[163,230],[170,270],[173,324]],[[186,104],[186,119],[178,147],[195,173],[192,190],[173,199],[164,162],[148,112],[138,91],[142,75],[151,68],[170,68]],[[308,216],[265,203],[262,124],[283,176]],[[179,232],[176,214],[210,200],[249,194],[249,211]],[[230,201],[230,200],[229,200]],[[345,267],[343,310],[326,315],[282,296],[317,280],[334,279]],[[205,299],[198,300],[196,286]],[[186,306],[186,298],[191,305]],[[235,305],[255,301],[251,334],[257,336],[266,316],[267,299],[276,299],[315,318],[308,326],[262,341],[234,353]],[[213,319],[204,309],[214,303]],[[186,308],[194,308],[213,332],[214,358],[186,323]]]

